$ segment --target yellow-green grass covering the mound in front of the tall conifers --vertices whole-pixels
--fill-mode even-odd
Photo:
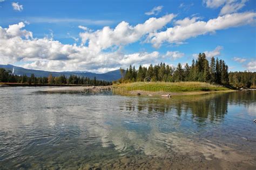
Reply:
[[[129,91],[150,91],[150,92],[190,92],[190,91],[222,91],[230,90],[226,87],[213,85],[205,82],[132,82],[114,84],[114,88],[120,89],[125,93]]]

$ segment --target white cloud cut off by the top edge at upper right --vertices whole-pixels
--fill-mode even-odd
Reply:
[[[203,2],[207,8],[219,8],[224,5],[220,10],[220,15],[226,15],[240,10],[247,0],[204,0]]]

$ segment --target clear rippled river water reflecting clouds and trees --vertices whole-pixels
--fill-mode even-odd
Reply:
[[[0,88],[0,169],[256,168],[256,91],[169,99],[42,89]]]

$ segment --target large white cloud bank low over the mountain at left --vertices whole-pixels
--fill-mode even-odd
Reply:
[[[62,44],[52,38],[33,38],[23,30],[24,23],[0,27],[1,63],[22,61],[25,68],[43,70],[89,70],[104,72],[129,65],[157,63],[159,52],[123,54],[120,51],[94,51],[87,46]]]

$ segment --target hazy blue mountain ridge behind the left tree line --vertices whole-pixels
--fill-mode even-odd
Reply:
[[[96,77],[97,80],[105,80],[105,81],[113,81],[113,80],[118,80],[121,78],[119,69],[113,70],[111,72],[103,73],[103,74],[97,74],[97,73],[81,72],[81,71],[47,72],[47,71],[43,71],[43,70],[26,69],[26,68],[22,68],[22,67],[13,66],[13,65],[0,65],[0,68],[10,70],[11,72],[14,69],[14,74],[16,74],[16,75],[30,76],[31,74],[35,74],[36,77],[48,77],[50,74],[52,74],[52,76],[65,75],[65,76],[69,77],[72,74],[72,75],[77,75],[77,76],[89,77],[90,79],[93,79],[94,77]]]

